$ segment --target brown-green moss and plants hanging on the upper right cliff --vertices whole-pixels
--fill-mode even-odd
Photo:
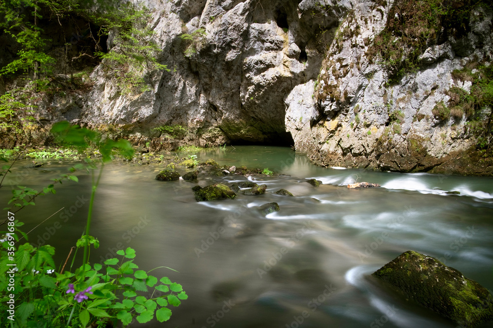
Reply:
[[[491,7],[489,0],[396,0],[387,15],[387,25],[367,51],[371,62],[379,58],[395,84],[408,72],[422,66],[420,56],[433,44],[470,31],[469,17],[476,5]],[[382,3],[387,4],[387,3]]]

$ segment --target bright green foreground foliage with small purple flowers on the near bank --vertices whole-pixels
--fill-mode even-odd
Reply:
[[[152,270],[139,269],[134,263],[134,249],[128,247],[126,250],[118,250],[116,254],[121,258],[108,259],[104,262],[105,266],[89,263],[90,245],[99,247],[98,239],[91,236],[89,230],[94,195],[104,162],[111,159],[112,149],[131,155],[130,145],[120,140],[103,142],[98,133],[70,126],[68,122],[57,123],[52,130],[66,143],[76,147],[98,147],[103,156],[97,179],[94,168],[98,163],[86,161],[87,168],[93,172],[93,186],[86,231],[76,242],[77,249],[84,248],[82,266],[72,271],[74,257],[70,269],[65,270],[64,265],[60,272],[55,272],[54,247],[34,247],[29,242],[16,247],[16,241],[18,244],[21,238],[27,240],[28,236],[19,229],[23,223],[15,219],[15,212],[8,211],[7,219],[3,222],[8,221],[6,230],[0,231],[0,236],[3,236],[0,240],[0,288],[5,291],[7,287],[12,287],[11,291],[15,291],[12,294],[15,304],[15,321],[12,325],[20,328],[87,327],[89,324],[91,327],[106,327],[109,321],[113,326],[120,321],[123,327],[127,327],[134,318],[139,323],[147,323],[154,318],[159,322],[169,320],[172,314],[170,305],[178,306],[188,296],[181,285],[169,278],[158,279],[149,274]],[[3,157],[0,160],[5,161]],[[80,169],[81,166],[74,167],[71,171]],[[10,166],[4,166],[0,175],[8,172]],[[55,182],[61,183],[64,179],[77,181],[73,175],[64,175],[55,179]],[[43,188],[42,192],[21,186],[13,190],[9,204],[22,209],[27,205],[35,205],[34,198],[46,193],[55,193],[54,184]],[[12,280],[9,280],[11,277]],[[149,293],[150,296],[144,296]],[[7,300],[10,298],[10,295],[0,295],[2,313],[8,313]]]

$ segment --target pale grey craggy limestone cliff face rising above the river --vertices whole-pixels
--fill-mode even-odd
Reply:
[[[391,65],[376,40],[413,1],[144,0],[169,71],[146,72],[148,90],[129,94],[101,64],[87,95],[42,102],[36,119],[122,129],[157,150],[294,143],[326,166],[493,175],[491,156],[471,152],[478,138],[467,124],[491,108],[470,115],[459,104],[493,60],[493,13],[481,2],[460,24],[442,19],[424,45],[404,43],[404,64]],[[163,125],[185,132],[152,130]]]

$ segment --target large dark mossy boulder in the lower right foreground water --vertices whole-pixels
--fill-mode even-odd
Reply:
[[[372,275],[406,298],[462,327],[475,327],[493,320],[490,292],[435,258],[407,251]]]

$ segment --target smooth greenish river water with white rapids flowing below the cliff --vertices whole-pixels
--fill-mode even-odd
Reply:
[[[264,146],[197,155],[284,175],[259,178],[267,185],[263,195],[196,202],[196,183],[155,180],[159,168],[106,166],[91,226],[101,242],[93,262],[133,247],[141,269],[179,271],[160,268],[153,274],[170,277],[189,295],[172,308],[168,323],[146,327],[456,327],[370,277],[407,250],[436,257],[493,289],[491,178],[321,168],[291,149]],[[68,165],[15,168],[7,184],[41,188]],[[314,188],[307,178],[324,184]],[[382,188],[345,187],[354,180]],[[201,186],[212,182],[199,180]],[[83,231],[90,183],[89,175],[79,175],[79,183],[64,182],[56,195],[40,197],[35,207],[17,214],[28,231],[65,207],[30,234],[35,244],[56,246],[59,261]],[[281,188],[296,197],[274,193]],[[281,210],[264,215],[254,208],[270,202]]]

